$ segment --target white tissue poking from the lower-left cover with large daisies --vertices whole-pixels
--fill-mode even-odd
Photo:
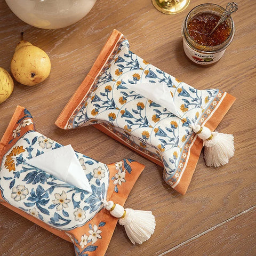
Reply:
[[[49,150],[42,155],[28,159],[26,163],[92,193],[90,183],[71,145]]]

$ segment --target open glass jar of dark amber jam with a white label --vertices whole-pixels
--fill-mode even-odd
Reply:
[[[217,62],[233,40],[235,25],[231,17],[209,36],[224,11],[217,4],[201,4],[192,9],[183,21],[183,48],[193,62],[201,65]]]

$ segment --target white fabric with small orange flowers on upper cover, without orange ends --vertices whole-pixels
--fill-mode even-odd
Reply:
[[[197,90],[150,65],[129,47],[123,37],[70,117],[67,129],[99,122],[130,147],[162,161],[165,180],[174,184],[188,156],[185,145],[194,138],[190,124],[202,124],[218,105],[223,92]],[[125,87],[141,83],[165,83],[179,117]],[[122,177],[122,172],[119,174]]]

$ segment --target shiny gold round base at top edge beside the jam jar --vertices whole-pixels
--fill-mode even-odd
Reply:
[[[151,0],[159,12],[176,14],[182,12],[188,6],[190,0]]]

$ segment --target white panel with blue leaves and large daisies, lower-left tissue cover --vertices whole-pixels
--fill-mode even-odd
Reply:
[[[27,159],[58,147],[62,146],[41,133],[27,132],[3,158],[0,189],[11,205],[52,227],[70,230],[83,226],[102,209],[101,199],[106,198],[109,171],[105,164],[76,153],[90,181],[93,191],[90,194],[26,163]],[[10,162],[13,164],[11,172]]]

